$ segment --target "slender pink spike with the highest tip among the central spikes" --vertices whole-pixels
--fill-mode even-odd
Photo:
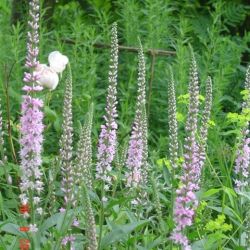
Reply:
[[[114,160],[117,140],[117,70],[118,70],[118,39],[117,25],[113,24],[111,30],[111,59],[109,68],[109,86],[107,94],[107,106],[104,116],[105,124],[101,126],[101,133],[98,142],[96,178],[103,180],[104,189],[107,191],[111,185],[110,172],[111,163]],[[103,200],[106,200],[103,197]]]

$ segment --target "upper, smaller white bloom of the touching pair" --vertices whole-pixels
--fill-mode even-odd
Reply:
[[[48,57],[49,66],[57,73],[62,73],[69,62],[67,56],[61,54],[59,51],[53,51]]]

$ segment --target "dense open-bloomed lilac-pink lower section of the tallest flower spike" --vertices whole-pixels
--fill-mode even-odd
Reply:
[[[42,132],[43,132],[43,113],[41,108],[43,102],[38,98],[33,98],[29,95],[23,96],[22,103],[22,117],[21,117],[21,134],[20,143],[22,145],[21,156],[21,170],[22,182],[20,184],[21,194],[20,198],[22,204],[28,202],[27,192],[29,190],[36,190],[38,194],[42,191],[43,183],[41,181],[40,165],[41,151],[42,151]],[[34,199],[38,203],[40,198]]]

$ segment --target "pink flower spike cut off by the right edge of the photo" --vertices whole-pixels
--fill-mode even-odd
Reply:
[[[247,69],[245,90],[248,92],[242,104],[242,113],[250,109],[250,66]],[[237,151],[234,172],[237,175],[235,180],[236,191],[243,191],[249,186],[250,177],[250,138],[249,138],[249,121],[242,128],[241,142]]]

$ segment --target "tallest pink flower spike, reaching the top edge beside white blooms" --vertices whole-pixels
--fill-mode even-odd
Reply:
[[[23,95],[21,105],[21,183],[20,183],[20,199],[23,206],[28,203],[31,207],[31,221],[35,223],[35,213],[42,213],[42,208],[38,206],[40,202],[40,194],[43,190],[42,172],[41,172],[41,152],[43,142],[43,102],[39,98],[34,97],[34,93],[41,91],[43,88],[36,85],[39,79],[39,74],[35,72],[38,62],[38,22],[39,22],[39,0],[32,0],[29,3],[29,32],[27,42],[27,56],[25,66],[29,69],[24,73],[24,82],[27,84],[23,87],[26,92]],[[36,210],[36,211],[35,211]],[[23,214],[25,217],[29,216],[30,210]],[[30,226],[30,231],[36,231],[36,225]]]

